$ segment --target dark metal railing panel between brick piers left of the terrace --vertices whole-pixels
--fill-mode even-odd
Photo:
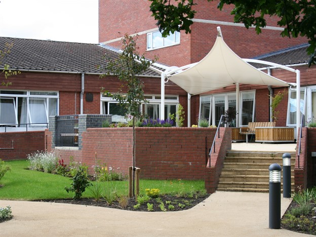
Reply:
[[[55,146],[78,146],[78,115],[57,116]]]

